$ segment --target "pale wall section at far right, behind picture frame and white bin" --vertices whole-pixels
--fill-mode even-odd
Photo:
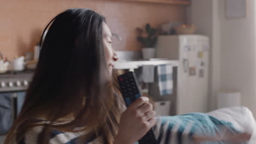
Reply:
[[[255,4],[247,1],[247,17],[226,19],[219,1],[220,87],[241,91],[241,104],[256,116]]]

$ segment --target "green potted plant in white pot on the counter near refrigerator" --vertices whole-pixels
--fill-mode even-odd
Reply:
[[[153,28],[147,23],[144,30],[142,28],[137,28],[139,36],[137,40],[143,45],[142,56],[144,59],[154,58],[155,57],[155,48],[154,45],[158,39],[156,32],[157,29]]]

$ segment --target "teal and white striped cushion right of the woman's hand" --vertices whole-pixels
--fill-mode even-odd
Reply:
[[[159,117],[153,130],[159,143],[193,143],[193,135],[219,136],[226,133],[235,135],[240,133],[232,123],[220,121],[205,113]],[[228,142],[207,141],[202,143],[226,144]]]

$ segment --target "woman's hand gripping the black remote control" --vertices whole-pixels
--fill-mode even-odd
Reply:
[[[119,132],[115,137],[115,144],[134,144],[141,139],[156,119],[153,105],[149,103],[147,97],[140,97],[134,101],[122,114],[119,123]]]

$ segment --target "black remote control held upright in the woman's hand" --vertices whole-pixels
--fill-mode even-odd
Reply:
[[[121,89],[126,106],[129,106],[137,98],[141,97],[141,89],[138,86],[135,73],[132,71],[118,76],[118,83]],[[153,130],[150,129],[146,135],[139,140],[140,144],[157,144]]]

